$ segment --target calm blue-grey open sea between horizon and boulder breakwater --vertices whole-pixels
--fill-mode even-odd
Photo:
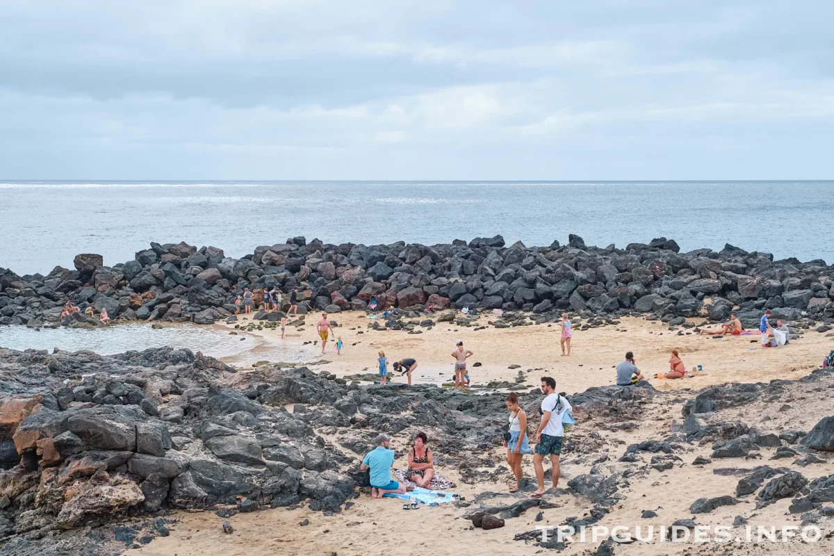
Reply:
[[[48,273],[77,253],[123,263],[148,243],[229,256],[304,235],[326,243],[589,245],[674,238],[834,262],[834,182],[3,182],[0,267]]]

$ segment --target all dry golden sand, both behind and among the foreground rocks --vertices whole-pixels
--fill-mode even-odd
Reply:
[[[320,348],[312,344],[303,346],[304,341],[317,338],[314,323],[318,314],[307,318],[308,325],[304,332],[296,333],[288,328],[284,342],[300,353],[309,356],[314,362],[319,359]],[[647,322],[638,318],[623,319],[619,326],[595,328],[577,331],[574,337],[574,350],[570,358],[559,355],[559,332],[556,325],[531,326],[525,328],[506,328],[474,331],[472,328],[459,328],[441,323],[432,330],[419,335],[404,332],[376,332],[366,327],[369,322],[359,313],[342,313],[335,315],[343,326],[336,328],[341,335],[345,348],[341,356],[329,346],[325,363],[320,368],[337,375],[356,373],[362,368],[375,370],[376,352],[384,349],[391,361],[395,358],[412,357],[420,363],[418,376],[421,381],[435,382],[438,378],[451,376],[450,352],[455,340],[461,338],[465,346],[475,351],[471,362],[480,361],[483,367],[473,368],[471,376],[474,383],[486,383],[490,379],[505,378],[512,380],[517,371],[507,367],[510,364],[521,365],[522,370],[537,369],[530,374],[528,383],[537,383],[540,374],[551,374],[559,383],[559,388],[568,393],[579,392],[590,386],[614,383],[614,369],[626,350],[636,354],[638,366],[646,373],[666,371],[669,350],[677,348],[687,367],[701,364],[704,373],[696,378],[683,378],[674,381],[652,379],[656,388],[693,388],[700,389],[710,384],[736,382],[766,382],[772,378],[800,378],[811,372],[821,363],[828,350],[834,346],[831,338],[821,333],[806,332],[801,339],[791,345],[763,350],[759,347],[758,337],[713,339],[706,336],[677,336],[661,323]],[[485,321],[487,318],[483,318]],[[354,328],[354,329],[351,329]],[[291,332],[292,330],[292,332]],[[359,333],[362,331],[363,333]],[[264,330],[268,343],[275,343],[279,332]],[[751,343],[755,340],[756,343]],[[279,340],[278,340],[279,342]],[[355,343],[355,345],[353,345]],[[749,348],[756,347],[755,350]],[[267,351],[254,354],[256,359],[264,357]],[[278,353],[283,353],[279,352]],[[273,358],[279,360],[279,358]],[[235,363],[233,361],[233,363]],[[240,361],[237,363],[241,363]],[[540,369],[540,370],[538,370]],[[420,373],[422,371],[422,373]],[[422,376],[420,376],[422,375]],[[402,378],[395,378],[401,382]],[[834,379],[826,379],[822,388],[834,387]],[[802,390],[801,388],[806,388]],[[751,425],[762,426],[765,431],[778,431],[786,428],[808,430],[821,417],[834,414],[834,402],[823,395],[815,403],[807,403],[807,386],[791,385],[786,398],[793,408],[777,412],[773,402],[760,400],[742,408],[726,409],[721,418],[726,420],[741,419]],[[816,388],[820,389],[820,388]],[[795,392],[794,392],[795,391]],[[689,394],[691,395],[691,394]],[[685,396],[686,397],[686,396]],[[631,432],[612,433],[603,429],[599,434],[609,444],[609,463],[615,465],[616,459],[625,451],[625,447],[634,442],[648,438],[663,438],[672,432],[673,427],[681,423],[681,404],[683,398],[658,396],[647,404],[645,416],[639,428]],[[779,403],[778,405],[781,405]],[[772,420],[761,423],[761,416],[768,415]],[[676,423],[676,424],[673,424]],[[597,423],[598,424],[598,423]],[[581,423],[580,423],[581,425]],[[393,448],[405,448],[404,438],[394,438]],[[611,449],[613,444],[617,448]],[[774,467],[790,463],[791,460],[767,461],[775,452],[774,448],[762,448],[759,461],[746,461],[740,458],[716,460],[711,465],[698,467],[691,465],[698,455],[709,457],[711,444],[704,446],[685,445],[682,460],[678,467],[669,472],[651,470],[645,475],[637,474],[630,478],[631,487],[625,493],[627,498],[613,508],[612,512],[600,521],[600,525],[629,526],[650,524],[668,526],[679,518],[695,518],[696,523],[730,525],[736,515],[744,515],[752,525],[798,524],[799,515],[788,515],[786,508],[789,499],[781,500],[768,508],[754,510],[755,499],[748,496],[736,506],[718,508],[713,513],[693,516],[688,508],[696,498],[721,496],[733,493],[738,477],[723,477],[712,473],[717,467],[745,467],[771,464]],[[505,450],[495,448],[495,458],[503,458]],[[357,463],[359,460],[357,459]],[[622,463],[619,464],[623,465]],[[395,467],[404,467],[404,458],[400,458]],[[560,486],[580,473],[587,473],[589,463],[575,463],[570,453],[563,458],[563,473]],[[621,470],[621,468],[620,468]],[[457,480],[454,470],[441,469],[443,473]],[[494,471],[494,469],[490,469]],[[532,476],[532,458],[525,457],[525,475]],[[823,463],[803,468],[807,478],[834,473],[834,463]],[[458,483],[453,490],[471,500],[475,494],[485,491],[504,493],[507,489],[509,472],[504,473],[496,483],[478,483],[467,485]],[[521,499],[527,494],[519,493]],[[510,500],[510,503],[514,500]],[[153,543],[135,553],[145,556],[197,556],[216,554],[218,556],[267,556],[272,554],[315,554],[329,555],[365,555],[390,554],[428,556],[440,554],[534,554],[549,553],[548,550],[524,542],[514,541],[515,533],[530,531],[537,525],[555,526],[564,523],[569,516],[581,517],[587,513],[592,504],[585,498],[563,494],[554,498],[555,508],[543,510],[543,519],[535,522],[539,508],[531,508],[519,518],[506,521],[504,528],[491,531],[470,529],[470,522],[461,519],[465,508],[438,507],[420,508],[415,512],[404,512],[402,502],[396,499],[373,500],[362,494],[354,500],[355,505],[343,513],[324,517],[322,513],[311,512],[306,508],[288,511],[277,508],[249,514],[238,514],[230,518],[234,533],[225,534],[220,527],[221,519],[212,512],[174,513],[178,523],[172,525],[168,538],[157,538]],[[501,503],[507,503],[502,500]],[[641,512],[646,509],[656,511],[657,518],[642,519]],[[309,526],[299,523],[309,519]],[[734,529],[734,534],[743,535],[744,530]],[[826,529],[823,526],[823,534]],[[593,553],[600,543],[575,543],[565,553]],[[757,553],[797,553],[809,556],[834,552],[834,543],[824,538],[820,543],[801,544],[792,542],[751,544],[683,544],[669,543],[633,543],[619,545],[617,554],[713,554],[731,552],[735,554]]]

